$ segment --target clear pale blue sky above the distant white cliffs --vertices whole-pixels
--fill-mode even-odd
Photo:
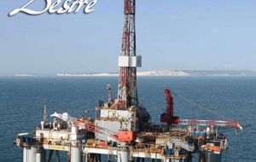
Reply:
[[[0,75],[118,72],[123,0],[98,0],[90,14],[8,16],[27,2],[0,1]],[[137,55],[139,71],[256,71],[256,1],[138,0]]]

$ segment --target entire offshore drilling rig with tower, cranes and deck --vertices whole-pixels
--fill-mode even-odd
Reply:
[[[166,89],[166,112],[160,115],[162,125],[150,122],[147,109],[137,96],[137,67],[142,56],[136,53],[136,0],[125,0],[124,32],[119,55],[118,97],[113,100],[108,84],[108,102],[96,107],[96,118],[73,118],[68,113],[50,115],[47,104],[44,119],[33,134],[17,134],[15,145],[23,148],[23,162],[61,161],[192,161],[195,153],[200,162],[220,162],[228,149],[227,138],[218,127],[242,129],[235,121],[180,119],[173,113],[171,90]],[[179,125],[185,125],[179,127]],[[106,155],[105,158],[102,155]]]

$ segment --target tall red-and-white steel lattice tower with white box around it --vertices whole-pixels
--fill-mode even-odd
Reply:
[[[136,55],[135,9],[136,0],[125,0],[118,89],[119,102],[125,108],[138,105],[137,67],[141,67],[141,56]]]

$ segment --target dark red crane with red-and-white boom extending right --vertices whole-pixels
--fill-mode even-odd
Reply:
[[[166,113],[160,115],[160,121],[167,124],[181,124],[181,125],[194,125],[194,126],[220,126],[220,127],[235,127],[242,130],[241,124],[236,121],[222,121],[222,120],[201,120],[201,119],[179,119],[173,116],[173,98],[169,88],[165,89],[166,94]]]

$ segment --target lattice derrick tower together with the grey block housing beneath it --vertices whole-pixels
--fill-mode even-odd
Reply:
[[[137,98],[137,67],[142,66],[142,57],[136,54],[135,7],[135,0],[125,0],[118,98],[112,101],[108,96],[108,103],[96,107],[95,120],[96,125],[104,129],[129,134],[124,139],[126,141],[133,139],[138,131],[146,129],[150,119],[146,108],[139,105]],[[96,139],[108,142],[108,137],[97,132]]]

